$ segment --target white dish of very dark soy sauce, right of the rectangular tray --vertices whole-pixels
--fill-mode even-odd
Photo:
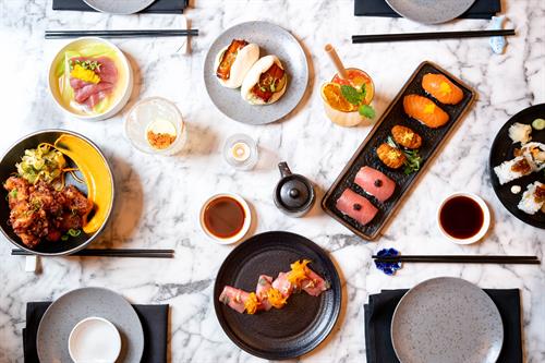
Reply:
[[[491,217],[486,204],[479,196],[458,193],[441,204],[438,219],[446,237],[467,244],[476,242],[486,233]]]

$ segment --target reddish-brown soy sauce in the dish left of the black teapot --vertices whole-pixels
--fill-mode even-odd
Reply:
[[[242,230],[246,215],[242,205],[229,196],[211,201],[204,213],[206,229],[214,235],[228,239]]]

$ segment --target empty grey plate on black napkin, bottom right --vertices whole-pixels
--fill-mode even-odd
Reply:
[[[401,363],[493,363],[504,324],[492,299],[453,277],[416,285],[399,301],[391,342]]]

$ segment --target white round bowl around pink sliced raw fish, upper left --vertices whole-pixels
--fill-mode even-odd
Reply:
[[[108,47],[112,48],[118,58],[121,60],[121,64],[123,66],[122,72],[126,74],[126,80],[125,84],[121,85],[123,89],[121,90],[121,95],[117,99],[117,101],[105,112],[98,113],[98,114],[81,114],[77,112],[74,112],[73,110],[69,109],[66,106],[63,105],[63,102],[60,99],[60,94],[59,94],[59,86],[58,86],[58,78],[56,77],[56,68],[58,62],[64,57],[64,52],[74,46],[77,46],[80,43],[89,43],[89,41],[95,41],[95,43],[102,43],[107,45]],[[74,39],[64,47],[62,47],[57,55],[53,57],[51,64],[49,65],[49,93],[51,94],[51,97],[53,98],[57,106],[63,110],[66,114],[78,118],[81,120],[86,120],[86,121],[99,121],[99,120],[105,120],[113,117],[116,113],[121,111],[123,107],[126,105],[129,101],[129,98],[131,98],[131,93],[133,90],[133,71],[131,68],[131,63],[126,59],[125,55],[113,43],[110,43],[106,39],[98,38],[98,37],[82,37]]]

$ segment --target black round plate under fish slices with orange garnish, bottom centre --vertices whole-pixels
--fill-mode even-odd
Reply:
[[[318,297],[293,293],[286,306],[239,314],[219,301],[225,286],[255,291],[259,275],[274,278],[289,271],[298,259],[329,282]],[[246,352],[269,360],[303,355],[316,348],[331,332],[341,308],[341,283],[326,252],[306,238],[289,232],[254,235],[227,256],[216,277],[214,307],[219,324],[229,338]]]

